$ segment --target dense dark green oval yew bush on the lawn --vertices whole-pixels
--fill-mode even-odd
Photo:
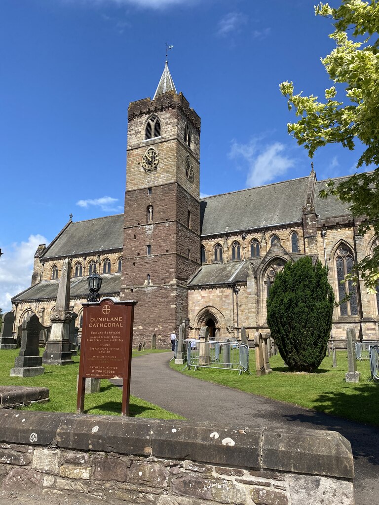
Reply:
[[[267,324],[290,370],[312,372],[325,357],[334,307],[326,268],[311,258],[288,263],[267,300]]]

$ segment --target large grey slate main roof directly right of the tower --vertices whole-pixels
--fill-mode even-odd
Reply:
[[[302,221],[308,177],[201,200],[201,234],[213,235]]]

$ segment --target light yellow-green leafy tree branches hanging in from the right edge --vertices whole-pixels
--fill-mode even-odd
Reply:
[[[280,91],[288,98],[290,110],[300,117],[289,123],[288,131],[312,158],[316,149],[340,143],[353,150],[356,142],[365,146],[357,168],[373,166],[369,173],[355,174],[337,186],[329,181],[320,196],[329,194],[350,204],[353,216],[365,216],[360,226],[370,226],[379,236],[379,3],[378,0],[342,0],[339,8],[320,3],[315,14],[333,19],[335,31],[329,35],[336,48],[321,59],[336,86],[325,90],[325,99],[294,94],[292,82],[282,82]],[[351,39],[355,39],[355,41]],[[344,90],[344,91],[343,91]],[[337,95],[345,94],[343,101]],[[379,248],[372,258],[358,264],[370,290],[379,280]]]

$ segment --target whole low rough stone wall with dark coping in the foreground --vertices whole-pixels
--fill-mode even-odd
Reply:
[[[337,432],[0,412],[0,489],[114,505],[353,505]]]

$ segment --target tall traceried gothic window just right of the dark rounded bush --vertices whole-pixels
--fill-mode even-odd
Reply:
[[[358,298],[357,288],[353,286],[353,281],[345,281],[347,274],[354,270],[354,260],[352,252],[342,245],[336,256],[336,270],[337,270],[337,283],[338,283],[338,297],[340,301],[340,314],[341,316],[357,316],[358,315]],[[346,296],[348,296],[347,299]]]

